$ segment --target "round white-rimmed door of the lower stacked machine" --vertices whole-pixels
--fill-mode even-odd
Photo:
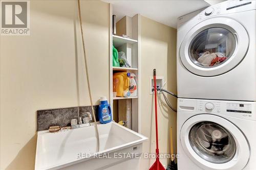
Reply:
[[[243,133],[217,115],[190,117],[181,128],[180,141],[187,156],[203,169],[243,169],[250,156]]]

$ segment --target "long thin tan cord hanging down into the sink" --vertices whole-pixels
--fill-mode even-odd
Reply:
[[[82,35],[83,57],[84,57],[84,63],[86,64],[87,85],[88,85],[88,91],[89,91],[89,96],[90,96],[91,108],[92,108],[92,112],[93,112],[93,120],[94,120],[94,123],[95,123],[95,130],[96,130],[96,137],[97,137],[97,148],[96,148],[96,151],[99,152],[99,131],[98,131],[98,126],[97,126],[97,122],[96,122],[95,112],[94,112],[94,108],[93,108],[92,93],[91,93],[91,87],[90,87],[90,81],[89,81],[87,57],[86,57],[86,47],[84,45],[84,39],[83,39],[80,0],[77,0],[77,3],[78,3],[78,14],[79,14],[80,29],[81,29],[81,35]]]

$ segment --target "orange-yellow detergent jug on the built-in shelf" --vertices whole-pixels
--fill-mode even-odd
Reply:
[[[116,72],[113,74],[113,92],[116,96],[123,97],[123,91],[129,91],[130,78],[127,72]]]

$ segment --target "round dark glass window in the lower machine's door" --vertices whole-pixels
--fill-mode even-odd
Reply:
[[[236,154],[233,136],[222,126],[213,122],[201,122],[189,131],[193,150],[211,163],[226,163]]]

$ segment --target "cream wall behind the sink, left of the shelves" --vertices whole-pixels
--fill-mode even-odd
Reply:
[[[76,1],[31,1],[30,6],[31,35],[0,40],[0,169],[34,169],[36,110],[90,105],[78,22],[74,27]],[[81,1],[81,9],[98,104],[100,96],[109,97],[109,5]]]

